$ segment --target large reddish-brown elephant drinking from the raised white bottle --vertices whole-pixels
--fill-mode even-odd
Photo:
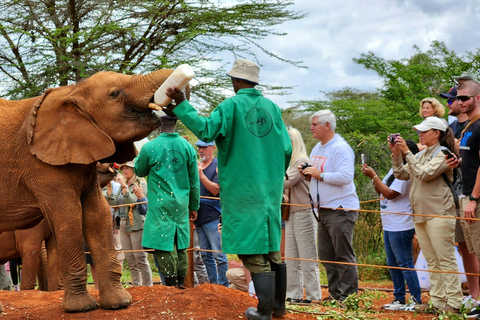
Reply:
[[[63,262],[67,312],[97,308],[86,289],[82,236],[97,266],[100,305],[118,309],[131,303],[120,283],[96,162],[135,157],[133,142],[161,125],[148,104],[171,73],[99,72],[40,97],[0,99],[0,232],[31,228],[45,217]]]

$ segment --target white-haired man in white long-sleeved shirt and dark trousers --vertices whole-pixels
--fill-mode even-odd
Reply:
[[[355,155],[335,133],[336,118],[330,110],[315,112],[310,121],[312,135],[320,142],[310,154],[311,167],[300,170],[310,179],[311,200],[319,220],[318,255],[323,261],[356,263],[353,228],[360,204],[353,183]],[[323,265],[330,298],[343,301],[358,291],[355,265]]]

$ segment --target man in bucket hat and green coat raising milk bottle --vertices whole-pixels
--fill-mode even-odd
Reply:
[[[260,68],[238,59],[227,73],[236,96],[223,101],[210,117],[200,117],[185,92],[168,88],[173,112],[202,141],[215,140],[222,195],[222,249],[238,254],[252,273],[257,309],[248,319],[286,313],[286,266],[280,256],[280,204],[292,146],[281,110],[254,87]]]

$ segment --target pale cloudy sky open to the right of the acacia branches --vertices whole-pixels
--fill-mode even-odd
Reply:
[[[241,1],[241,0],[239,0]],[[457,54],[480,48],[480,1],[464,0],[295,0],[291,10],[308,13],[284,23],[262,44],[281,57],[303,61],[299,69],[258,52],[260,81],[296,86],[291,95],[268,96],[280,107],[287,101],[322,97],[321,91],[349,86],[370,90],[382,81],[352,59],[368,51],[385,59],[413,54],[413,45],[427,50],[443,41]]]

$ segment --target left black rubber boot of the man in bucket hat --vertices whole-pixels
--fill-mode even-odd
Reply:
[[[245,311],[247,319],[271,320],[275,295],[275,272],[252,273],[252,281],[258,298],[257,308]]]

